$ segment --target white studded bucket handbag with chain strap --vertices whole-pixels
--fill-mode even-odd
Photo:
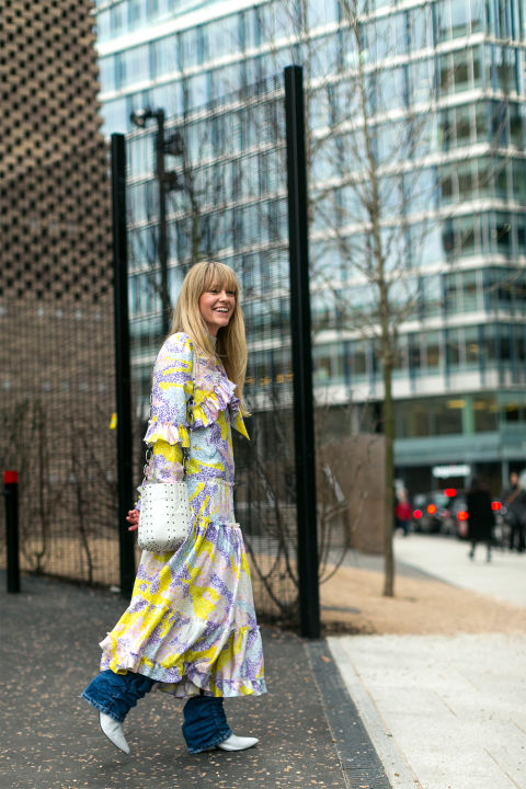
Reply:
[[[193,425],[192,405],[191,398],[188,400],[191,425]],[[192,427],[188,435],[192,437]],[[137,534],[137,544],[142,550],[155,553],[175,551],[190,534],[192,510],[188,502],[186,473],[191,447],[183,447],[182,451],[183,479],[181,482],[149,482],[142,485]]]

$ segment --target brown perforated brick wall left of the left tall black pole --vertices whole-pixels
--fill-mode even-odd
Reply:
[[[111,582],[113,275],[93,44],[87,0],[0,0],[0,469],[21,474],[22,565]]]

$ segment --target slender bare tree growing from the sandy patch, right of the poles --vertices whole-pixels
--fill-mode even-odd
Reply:
[[[422,304],[424,250],[431,235],[439,233],[445,258],[434,273],[450,272],[458,252],[472,243],[472,228],[461,229],[456,240],[448,230],[462,216],[461,198],[443,202],[445,179],[427,176],[433,157],[436,165],[437,152],[447,150],[441,98],[466,79],[467,68],[459,53],[456,58],[441,58],[439,67],[434,58],[422,57],[402,69],[400,56],[407,52],[408,36],[415,50],[428,46],[431,7],[410,12],[408,28],[405,22],[397,26],[391,16],[367,18],[361,0],[342,0],[342,45],[331,47],[316,32],[313,5],[306,0],[275,0],[267,35],[274,36],[276,67],[288,54],[290,61],[302,64],[306,78],[309,221],[311,250],[316,250],[311,287],[313,297],[324,299],[332,313],[330,323],[315,322],[315,334],[333,329],[371,342],[381,368],[384,593],[392,596],[392,376],[400,363],[403,324],[418,317]],[[418,24],[411,15],[416,11]],[[492,118],[495,139],[504,116]],[[503,167],[502,156],[500,162],[494,159],[487,173],[479,174],[479,187],[498,179]],[[339,266],[345,270],[346,283]]]

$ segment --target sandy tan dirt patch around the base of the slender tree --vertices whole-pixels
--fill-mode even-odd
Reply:
[[[511,603],[403,576],[389,598],[382,582],[379,572],[340,568],[320,590],[324,634],[526,632],[526,608]]]

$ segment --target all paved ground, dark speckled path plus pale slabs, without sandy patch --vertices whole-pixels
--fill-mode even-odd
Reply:
[[[464,542],[396,540],[399,571],[526,605],[526,557],[470,562]],[[350,563],[381,569],[359,554]],[[377,567],[378,565],[378,567]],[[524,789],[526,634],[353,636],[307,642],[263,628],[270,693],[227,701],[241,754],[186,753],[181,707],[155,694],[132,710],[133,754],[102,736],[79,698],[98,641],[125,602],[0,573],[3,690],[0,789]]]

